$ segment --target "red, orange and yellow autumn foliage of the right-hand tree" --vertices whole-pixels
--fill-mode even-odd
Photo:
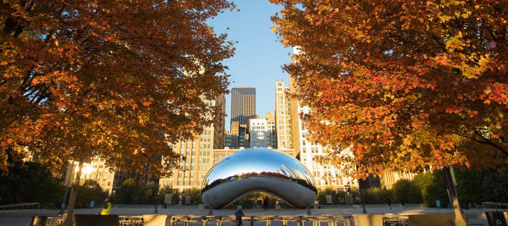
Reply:
[[[353,176],[508,158],[506,1],[271,0],[322,162]],[[355,158],[340,150],[349,148]]]

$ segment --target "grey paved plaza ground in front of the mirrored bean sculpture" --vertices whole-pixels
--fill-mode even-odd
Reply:
[[[117,215],[143,215],[153,214],[154,209],[115,209],[111,214]],[[75,214],[97,214],[100,208],[95,209],[76,209]],[[159,214],[167,215],[208,215],[208,209],[158,209]],[[233,215],[236,210],[223,209],[213,210],[214,215]],[[67,210],[66,210],[67,212]],[[252,215],[306,215],[307,210],[262,210],[262,209],[244,209],[245,216]],[[312,215],[351,215],[361,214],[362,209],[311,209]],[[428,213],[453,213],[453,209],[435,209],[435,208],[372,208],[367,209],[369,214],[386,215],[408,215],[408,214],[428,214]],[[470,223],[485,223],[487,220],[483,210],[465,210],[468,217],[474,217],[469,220]],[[0,225],[29,225],[32,216],[57,216],[58,210],[10,210],[0,211]],[[260,224],[261,225],[261,224]]]

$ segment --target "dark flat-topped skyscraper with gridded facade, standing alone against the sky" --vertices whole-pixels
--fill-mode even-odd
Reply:
[[[256,115],[256,88],[231,89],[231,122],[239,122],[248,128],[249,119],[253,115]]]

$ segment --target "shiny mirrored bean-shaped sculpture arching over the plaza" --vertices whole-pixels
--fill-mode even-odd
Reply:
[[[304,209],[316,200],[317,189],[309,170],[288,154],[267,148],[250,148],[215,164],[203,180],[206,206],[221,209],[252,192],[263,191],[294,208]]]

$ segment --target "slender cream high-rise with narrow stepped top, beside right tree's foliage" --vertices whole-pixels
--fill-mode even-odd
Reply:
[[[284,86],[284,80],[275,80],[275,130],[278,149],[293,149],[291,99],[286,96],[286,92],[289,92],[289,86]]]

